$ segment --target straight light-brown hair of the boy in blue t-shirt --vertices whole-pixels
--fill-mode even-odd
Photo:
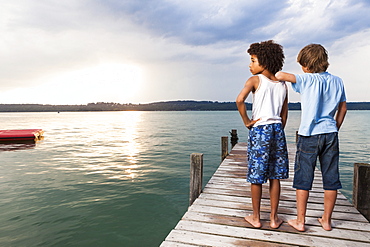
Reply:
[[[320,44],[309,44],[299,52],[297,62],[311,73],[325,72],[329,67],[328,52]]]

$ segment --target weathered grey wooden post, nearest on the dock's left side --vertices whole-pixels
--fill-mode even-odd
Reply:
[[[189,206],[193,204],[202,192],[203,186],[203,154],[190,155],[190,197]]]

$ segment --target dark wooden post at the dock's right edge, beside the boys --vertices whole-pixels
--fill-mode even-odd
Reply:
[[[353,205],[370,222],[370,164],[355,163]]]

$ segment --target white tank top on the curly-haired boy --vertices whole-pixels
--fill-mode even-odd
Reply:
[[[281,123],[280,112],[287,96],[285,82],[272,81],[259,74],[260,83],[253,93],[252,119],[259,119],[254,126]]]

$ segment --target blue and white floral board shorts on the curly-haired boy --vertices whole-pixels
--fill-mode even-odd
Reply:
[[[259,125],[249,131],[247,181],[263,184],[268,179],[289,177],[289,160],[281,123]]]

